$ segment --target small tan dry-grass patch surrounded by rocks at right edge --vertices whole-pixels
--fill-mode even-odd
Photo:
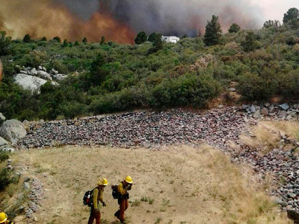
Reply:
[[[299,123],[295,121],[260,121],[253,127],[252,132],[254,137],[240,136],[242,142],[267,153],[280,147],[280,135],[299,140]],[[285,147],[285,149],[289,148]]]

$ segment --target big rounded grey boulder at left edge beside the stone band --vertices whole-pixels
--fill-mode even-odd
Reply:
[[[0,128],[0,136],[12,142],[18,142],[21,138],[26,136],[27,132],[21,121],[8,120],[3,123]]]

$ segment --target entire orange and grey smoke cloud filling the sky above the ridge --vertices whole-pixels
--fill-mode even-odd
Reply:
[[[136,32],[195,36],[218,15],[225,30],[232,23],[257,28],[259,8],[246,0],[2,0],[0,29],[13,38],[60,36],[68,40],[132,43]]]

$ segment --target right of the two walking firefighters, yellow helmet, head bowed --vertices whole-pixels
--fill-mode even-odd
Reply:
[[[125,221],[125,210],[128,209],[129,203],[129,193],[128,190],[131,190],[132,188],[132,177],[127,176],[125,179],[119,183],[119,186],[117,188],[117,191],[119,192],[118,196],[118,203],[119,203],[119,210],[115,212],[115,216],[121,223],[124,223]]]

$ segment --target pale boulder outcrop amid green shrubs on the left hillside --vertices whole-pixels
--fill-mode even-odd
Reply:
[[[40,86],[43,86],[47,81],[50,81],[53,86],[58,86],[57,82],[62,81],[67,75],[59,74],[55,69],[51,69],[47,73],[44,66],[38,66],[38,69],[31,67],[17,66],[19,73],[14,75],[14,82],[22,86],[26,90],[40,93]],[[55,80],[55,81],[53,81]]]

